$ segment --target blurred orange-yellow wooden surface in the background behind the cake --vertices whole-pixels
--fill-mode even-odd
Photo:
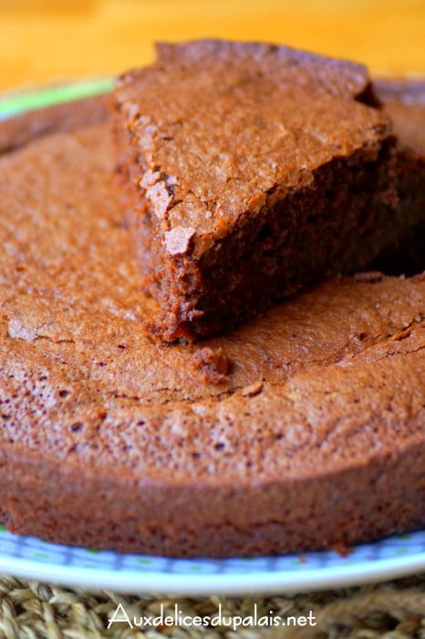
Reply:
[[[425,74],[425,0],[0,0],[0,90],[116,73],[155,40],[228,37]]]

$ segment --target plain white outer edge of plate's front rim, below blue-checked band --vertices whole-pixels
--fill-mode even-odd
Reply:
[[[425,571],[425,551],[411,556],[359,561],[349,567],[303,571],[257,571],[249,573],[179,574],[157,571],[93,570],[16,557],[0,556],[0,570],[15,577],[48,581],[70,587],[121,593],[198,595],[244,595],[277,592],[315,592],[356,586],[408,576]]]

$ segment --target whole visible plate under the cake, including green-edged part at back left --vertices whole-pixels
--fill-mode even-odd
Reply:
[[[23,110],[109,90],[110,79],[19,93],[0,99],[0,120]],[[0,571],[17,577],[116,592],[181,595],[313,591],[385,581],[425,571],[425,530],[350,550],[255,559],[176,560],[70,548],[0,527]]]

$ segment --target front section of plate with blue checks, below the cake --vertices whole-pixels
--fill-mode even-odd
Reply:
[[[86,569],[93,574],[91,580],[85,574]],[[144,591],[145,585],[153,580],[158,584],[158,592],[168,592],[168,588],[161,588],[165,579],[165,584],[177,583],[178,591],[181,582],[183,592],[199,592],[200,588],[204,590],[204,584],[208,581],[217,582],[222,592],[234,592],[234,584],[239,582],[239,592],[246,592],[254,588],[261,576],[263,582],[269,584],[269,590],[274,590],[280,584],[279,590],[282,592],[282,584],[285,583],[299,586],[300,582],[308,582],[313,589],[315,584],[317,587],[328,580],[338,583],[361,582],[370,579],[374,572],[378,575],[380,571],[392,571],[391,574],[397,575],[420,570],[425,570],[425,530],[381,539],[375,543],[359,544],[344,556],[326,550],[307,552],[302,556],[288,554],[218,560],[171,559],[74,548],[15,535],[4,526],[0,530],[0,571],[34,578],[41,571],[53,581],[58,574],[58,581],[63,583],[75,583],[77,571],[77,575],[80,575],[78,583],[82,575],[84,583],[103,584],[106,580],[109,587],[119,576],[119,583],[124,579],[125,582],[137,584],[138,591]],[[247,575],[250,576],[249,583],[243,584]]]

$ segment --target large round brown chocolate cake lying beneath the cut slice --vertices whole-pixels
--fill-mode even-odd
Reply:
[[[425,276],[334,278],[163,346],[113,165],[108,122],[0,158],[8,529],[195,557],[425,525]]]

